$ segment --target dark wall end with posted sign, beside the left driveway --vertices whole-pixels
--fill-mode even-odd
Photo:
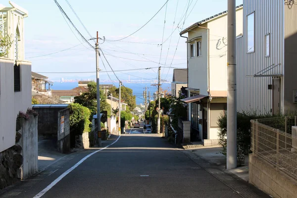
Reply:
[[[62,119],[63,116],[63,119]],[[62,123],[63,122],[63,123]],[[58,133],[57,146],[59,152],[70,152],[70,119],[69,108],[58,112]]]

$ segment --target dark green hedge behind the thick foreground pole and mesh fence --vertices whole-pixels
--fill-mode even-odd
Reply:
[[[255,111],[237,113],[237,153],[240,162],[244,159],[244,155],[250,152],[250,120],[280,116],[283,115],[257,114]],[[221,153],[227,155],[227,114],[221,114],[217,123]]]

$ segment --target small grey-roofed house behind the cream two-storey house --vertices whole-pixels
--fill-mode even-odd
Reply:
[[[188,69],[174,69],[171,83],[171,95],[179,97],[182,87],[188,87]]]

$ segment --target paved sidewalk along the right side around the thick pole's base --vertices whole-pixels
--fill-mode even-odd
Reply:
[[[270,198],[248,183],[248,157],[245,158],[244,166],[227,170],[226,156],[220,151],[218,146],[182,150],[190,159],[243,198]]]

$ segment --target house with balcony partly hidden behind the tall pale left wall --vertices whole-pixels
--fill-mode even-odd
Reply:
[[[31,72],[32,90],[36,90],[41,94],[51,96],[50,86],[53,85],[52,81],[49,81],[49,77]]]

